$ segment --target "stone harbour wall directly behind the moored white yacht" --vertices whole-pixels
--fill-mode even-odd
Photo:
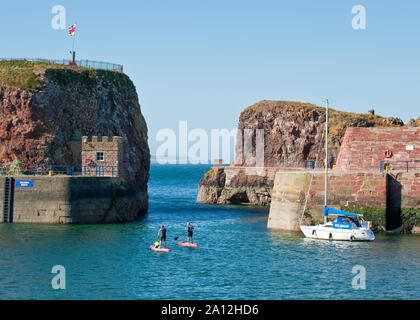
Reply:
[[[312,172],[277,172],[268,228],[299,230],[311,176]],[[324,194],[325,176],[317,171],[303,224],[323,221]],[[376,231],[404,227],[404,232],[412,232],[420,222],[416,218],[420,213],[420,173],[334,170],[328,177],[328,206],[362,213]],[[405,212],[410,212],[410,216],[405,217]],[[409,226],[406,226],[407,219],[411,221]]]

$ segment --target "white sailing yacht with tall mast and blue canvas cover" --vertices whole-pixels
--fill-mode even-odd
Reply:
[[[336,210],[327,206],[328,195],[328,100],[326,102],[326,124],[325,124],[325,205],[324,205],[324,224],[316,226],[302,225],[302,218],[306,210],[307,198],[302,213],[300,229],[307,238],[322,240],[341,240],[341,241],[373,241],[375,235],[369,228],[369,224],[359,221],[362,215]],[[313,176],[312,176],[313,178]],[[312,180],[311,180],[312,185]],[[311,185],[309,189],[311,188]],[[310,190],[308,190],[309,193]],[[308,195],[307,195],[308,197]],[[327,221],[329,216],[336,216],[334,221]]]

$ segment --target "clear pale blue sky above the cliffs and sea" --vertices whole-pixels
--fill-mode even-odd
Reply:
[[[77,21],[77,58],[124,65],[149,126],[227,128],[263,99],[420,116],[418,0],[3,0],[0,56],[68,58],[54,5]],[[353,30],[352,7],[366,7]]]

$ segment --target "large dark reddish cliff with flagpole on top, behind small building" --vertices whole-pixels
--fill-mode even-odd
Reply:
[[[123,73],[41,62],[0,62],[0,166],[19,159],[81,167],[82,136],[121,136],[122,177],[147,210],[150,152],[136,89]]]

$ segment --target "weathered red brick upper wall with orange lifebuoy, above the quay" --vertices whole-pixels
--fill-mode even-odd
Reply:
[[[348,128],[336,168],[379,170],[381,160],[388,160],[385,150],[392,151],[391,161],[420,161],[420,128]]]

